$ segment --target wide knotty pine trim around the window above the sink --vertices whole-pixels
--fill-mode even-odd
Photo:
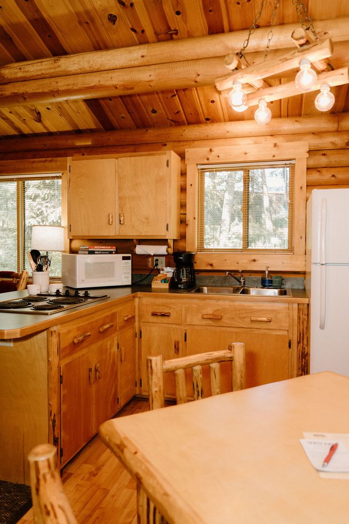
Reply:
[[[186,249],[196,253],[195,267],[201,270],[245,269],[305,271],[306,174],[308,141],[280,144],[251,144],[186,149],[187,228]],[[295,160],[294,245],[292,253],[198,253],[198,165],[212,163]]]

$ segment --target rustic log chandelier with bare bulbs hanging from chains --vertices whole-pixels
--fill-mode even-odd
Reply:
[[[292,0],[302,25],[302,28],[296,29],[291,35],[297,49],[278,58],[265,61],[273,38],[273,28],[279,6],[279,0],[275,0],[271,29],[264,50],[264,61],[255,65],[250,65],[247,62],[244,51],[249,45],[251,35],[257,28],[257,21],[265,4],[266,0],[263,0],[241,50],[235,54],[228,54],[224,59],[224,64],[231,70],[231,73],[216,78],[217,89],[221,91],[222,96],[228,97],[229,105],[234,111],[241,112],[245,111],[247,107],[258,105],[254,115],[258,124],[267,124],[272,117],[272,113],[267,107],[268,102],[319,89],[320,93],[316,97],[315,106],[319,111],[329,111],[334,104],[334,95],[330,92],[330,86],[349,83],[348,68],[333,69],[328,60],[333,52],[332,41],[327,39],[320,42],[302,2]],[[309,30],[312,32],[312,36]],[[298,68],[300,70],[294,82],[270,86],[267,80],[264,80],[275,73]],[[319,71],[319,74],[314,68]]]

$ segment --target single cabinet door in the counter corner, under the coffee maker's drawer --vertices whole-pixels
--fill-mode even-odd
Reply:
[[[183,335],[179,326],[142,326],[142,393],[148,393],[147,356],[162,355],[164,360],[183,356]],[[175,396],[174,373],[164,377],[164,394]]]

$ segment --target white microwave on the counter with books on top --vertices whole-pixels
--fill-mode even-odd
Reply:
[[[62,253],[62,283],[71,288],[130,286],[131,255]]]

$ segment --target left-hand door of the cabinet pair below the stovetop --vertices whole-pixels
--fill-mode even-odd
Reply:
[[[65,464],[91,439],[94,367],[86,352],[61,366],[61,447]]]

